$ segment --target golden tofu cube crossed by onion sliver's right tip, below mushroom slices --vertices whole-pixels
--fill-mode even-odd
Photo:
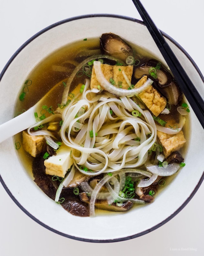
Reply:
[[[147,81],[147,76],[143,76],[135,87],[142,86]],[[161,96],[157,89],[152,85],[138,94],[141,101],[147,106],[147,108],[155,115],[158,116],[165,108],[167,104],[166,98]]]

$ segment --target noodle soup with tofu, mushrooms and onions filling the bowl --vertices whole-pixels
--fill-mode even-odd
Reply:
[[[108,48],[110,35],[122,42],[119,50]],[[188,106],[147,49],[111,33],[66,45],[25,79],[15,115],[53,87],[36,112],[38,123],[15,136],[16,149],[36,184],[71,214],[126,212],[151,203],[185,165],[188,122],[177,109]],[[170,141],[177,145],[170,148]]]

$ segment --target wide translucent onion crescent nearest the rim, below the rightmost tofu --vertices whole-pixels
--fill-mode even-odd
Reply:
[[[175,174],[178,169],[180,168],[180,165],[177,163],[169,164],[167,167],[159,167],[159,166],[146,166],[148,171],[150,171],[152,174],[158,175],[158,176],[171,176]]]

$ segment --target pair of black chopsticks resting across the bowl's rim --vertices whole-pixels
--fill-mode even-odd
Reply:
[[[157,44],[159,51],[167,62],[172,74],[177,80],[179,87],[183,91],[200,124],[204,128],[204,101],[202,97],[190,80],[184,68],[181,66],[180,62],[178,61],[174,52],[171,50],[160,30],[156,27],[152,19],[149,17],[143,5],[140,3],[139,0],[132,1],[136,6],[140,16],[142,17],[144,24],[149,30],[152,38]]]

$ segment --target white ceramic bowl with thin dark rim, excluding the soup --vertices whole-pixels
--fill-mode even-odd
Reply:
[[[139,20],[113,15],[89,15],[60,21],[26,41],[6,64],[0,75],[0,123],[14,116],[16,97],[23,81],[36,64],[67,43],[98,37],[107,32],[118,34],[127,41],[149,49],[165,62],[148,29]],[[168,35],[163,35],[200,94],[204,96],[204,78],[196,64],[177,42]],[[83,218],[67,213],[36,186],[19,161],[13,138],[7,139],[0,146],[0,180],[14,202],[28,216],[49,230],[83,241],[122,241],[160,227],[189,202],[204,178],[203,141],[203,129],[191,110],[186,166],[157,195],[153,204],[133,209],[126,214]]]

